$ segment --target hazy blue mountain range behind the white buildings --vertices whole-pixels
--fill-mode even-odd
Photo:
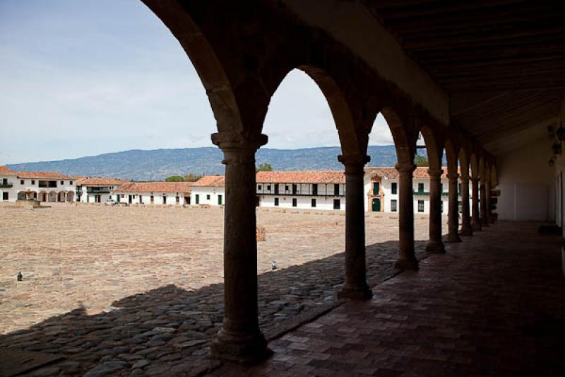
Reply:
[[[394,166],[394,146],[369,146],[368,166]],[[269,163],[273,170],[341,170],[338,146],[304,149],[261,148],[256,163]],[[216,147],[185,149],[133,149],[61,161],[9,164],[12,170],[54,171],[67,175],[91,175],[126,180],[164,180],[170,175],[223,174],[222,151]]]

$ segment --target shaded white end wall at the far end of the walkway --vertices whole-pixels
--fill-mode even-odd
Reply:
[[[554,220],[555,168],[547,163],[550,147],[551,143],[542,137],[497,158],[499,219]]]

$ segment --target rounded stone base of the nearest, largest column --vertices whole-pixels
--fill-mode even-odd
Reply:
[[[271,354],[273,352],[268,349],[267,341],[261,332],[254,335],[235,335],[222,329],[210,344],[210,356],[239,364],[257,364]]]

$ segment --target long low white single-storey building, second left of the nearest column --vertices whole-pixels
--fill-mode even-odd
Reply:
[[[115,202],[128,204],[191,204],[194,182],[129,182],[112,194]]]

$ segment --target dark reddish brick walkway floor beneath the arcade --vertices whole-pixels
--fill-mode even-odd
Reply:
[[[562,376],[560,236],[499,221],[214,376]]]

